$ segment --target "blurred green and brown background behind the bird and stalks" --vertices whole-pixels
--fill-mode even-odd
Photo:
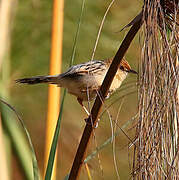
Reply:
[[[77,42],[77,51],[75,64],[88,61],[91,58],[94,48],[97,31],[109,5],[109,1],[86,1],[82,25],[80,29],[79,41]],[[63,71],[68,67],[77,23],[80,15],[81,1],[65,1],[64,9],[64,42],[63,42]],[[142,1],[121,0],[116,1],[112,6],[101,33],[99,45],[96,51],[95,59],[105,59],[115,55],[127,30],[119,32],[124,25],[137,15],[142,6]],[[43,156],[45,144],[45,121],[47,111],[47,85],[17,85],[15,79],[29,77],[34,75],[48,74],[50,40],[51,40],[51,16],[52,2],[42,0],[19,1],[16,8],[16,16],[13,22],[11,39],[11,82],[10,91],[12,103],[17,111],[22,115],[27,128],[32,137],[35,146],[37,160],[41,171],[43,170]],[[130,65],[137,70],[139,60],[139,39],[136,38],[132,43],[126,59]],[[136,81],[134,75],[129,75],[125,83]],[[127,88],[123,94],[133,89]],[[121,93],[118,91],[113,95],[107,104],[113,102]],[[120,102],[109,109],[112,117],[115,119]],[[136,114],[137,111],[137,92],[125,98],[119,114],[118,125],[122,126],[127,120]],[[61,135],[59,143],[58,170],[57,179],[63,179],[68,174],[76,153],[76,148],[85,125],[84,118],[86,114],[79,106],[76,98],[67,95],[65,100],[65,109],[62,119]],[[99,127],[96,129],[97,144],[101,145],[106,139],[111,137],[111,127],[107,114],[101,118]],[[131,127],[127,128],[130,129]],[[117,128],[119,131],[119,128]],[[126,130],[132,138],[133,131]],[[129,179],[129,151],[130,141],[120,132],[116,139],[116,158],[119,165],[119,174],[121,179]],[[95,143],[91,143],[92,152],[95,149]],[[117,179],[112,145],[107,146],[100,152],[100,161],[97,156],[89,161],[89,167],[94,179]],[[21,171],[14,163],[13,179],[21,179]],[[100,169],[102,166],[103,172]],[[17,169],[19,169],[17,171]],[[17,173],[18,172],[18,173]],[[83,169],[81,179],[86,179],[86,171]]]

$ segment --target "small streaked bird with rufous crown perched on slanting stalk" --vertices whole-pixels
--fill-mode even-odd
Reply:
[[[68,93],[77,97],[78,103],[89,114],[83,105],[83,101],[93,100],[98,93],[105,75],[112,63],[113,58],[106,60],[91,60],[82,64],[71,66],[66,72],[57,75],[34,76],[30,78],[17,79],[16,83],[22,84],[39,84],[48,83],[56,84],[68,90]],[[137,74],[132,70],[129,63],[122,59],[113,82],[109,88],[109,97],[120,86],[128,73]]]

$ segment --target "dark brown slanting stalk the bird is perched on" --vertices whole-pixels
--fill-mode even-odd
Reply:
[[[122,58],[124,57],[126,51],[128,50],[132,40],[134,39],[135,35],[137,34],[137,32],[139,31],[139,29],[142,25],[142,19],[143,19],[142,13],[140,13],[140,17],[138,17],[135,21],[133,21],[134,23],[132,24],[131,29],[129,30],[129,32],[127,33],[126,37],[124,38],[121,46],[119,47],[119,49],[113,59],[113,62],[106,74],[106,77],[105,77],[103,84],[99,91],[100,97],[97,96],[97,98],[94,102],[94,105],[92,107],[92,110],[91,110],[91,115],[88,117],[87,121],[89,123],[86,124],[80,144],[78,146],[78,150],[77,150],[77,153],[76,153],[76,156],[75,156],[75,159],[74,159],[71,171],[70,171],[69,180],[75,180],[79,177],[81,166],[82,166],[84,158],[85,158],[85,153],[87,151],[89,141],[92,136],[93,128],[95,127],[95,125],[97,123],[97,119],[98,119],[100,110],[103,105],[102,100],[104,98],[101,100],[101,97],[106,97],[109,87],[110,87],[110,85],[113,81],[113,78],[117,72],[117,69],[119,67],[119,64],[120,64]]]

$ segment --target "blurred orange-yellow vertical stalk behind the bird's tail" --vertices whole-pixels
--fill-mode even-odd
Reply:
[[[53,19],[52,19],[52,42],[51,42],[51,57],[50,57],[50,74],[59,74],[62,64],[62,39],[63,39],[63,16],[64,16],[64,1],[53,1]],[[45,163],[44,176],[47,168],[50,148],[57,124],[59,114],[60,89],[56,86],[49,85],[48,93],[48,112],[46,123],[46,144],[45,144]],[[57,151],[56,151],[57,158]],[[52,179],[56,179],[56,160]]]

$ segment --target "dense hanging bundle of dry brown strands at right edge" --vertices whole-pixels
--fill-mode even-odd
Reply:
[[[178,179],[178,0],[145,0],[133,179]]]

